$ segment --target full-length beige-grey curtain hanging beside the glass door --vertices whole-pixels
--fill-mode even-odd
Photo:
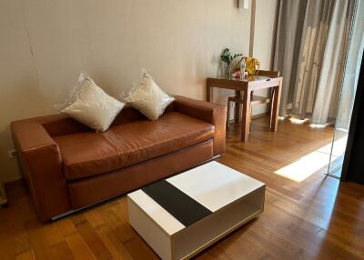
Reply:
[[[338,112],[354,0],[281,0],[274,69],[284,82],[280,115],[325,125]]]

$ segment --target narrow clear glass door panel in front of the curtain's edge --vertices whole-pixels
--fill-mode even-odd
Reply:
[[[364,14],[364,0],[357,0],[329,162],[328,174],[338,178],[341,176],[364,49],[364,15],[362,14]]]

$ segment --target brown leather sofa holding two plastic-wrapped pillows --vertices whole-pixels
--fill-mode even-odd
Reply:
[[[11,128],[38,215],[48,220],[222,154],[226,115],[224,105],[176,96],[157,121],[125,108],[105,133],[66,115]]]

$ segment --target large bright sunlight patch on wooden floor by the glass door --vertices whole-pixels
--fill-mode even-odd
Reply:
[[[335,160],[340,155],[343,155],[347,139],[348,137],[344,136],[335,141],[331,161]],[[275,174],[300,183],[323,167],[328,166],[330,153],[331,144],[322,146],[318,150],[299,158],[296,162],[280,168]]]

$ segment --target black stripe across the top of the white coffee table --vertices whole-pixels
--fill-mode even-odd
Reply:
[[[147,185],[142,190],[185,226],[212,213],[166,180]]]

